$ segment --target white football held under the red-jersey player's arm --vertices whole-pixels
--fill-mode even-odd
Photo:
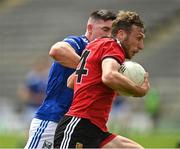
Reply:
[[[143,84],[144,75],[146,73],[145,69],[139,63],[133,61],[125,61],[121,65],[119,72],[137,85]],[[119,92],[119,94],[128,95],[126,93],[122,93],[121,91]]]

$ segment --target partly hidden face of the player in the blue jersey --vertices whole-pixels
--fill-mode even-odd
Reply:
[[[110,36],[112,28],[112,20],[103,21],[98,20],[92,27],[92,39],[97,37]]]

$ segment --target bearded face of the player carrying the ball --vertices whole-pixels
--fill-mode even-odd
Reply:
[[[126,33],[126,38],[121,40],[122,47],[126,52],[126,58],[131,59],[144,48],[144,29],[133,25],[131,32]]]

